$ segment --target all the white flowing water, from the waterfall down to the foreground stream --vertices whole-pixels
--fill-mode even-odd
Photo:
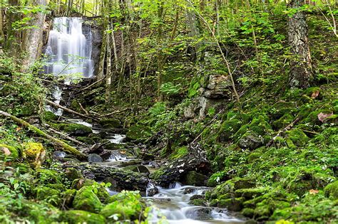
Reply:
[[[91,30],[83,33],[81,18],[54,18],[53,29],[49,33],[48,44],[45,54],[48,55],[48,66],[45,72],[53,75],[80,75],[83,78],[93,76],[93,60],[91,59],[92,36]],[[85,35],[86,34],[86,35]],[[65,83],[69,84],[72,78],[66,78]],[[56,103],[61,102],[62,90],[56,87],[53,91],[53,99]],[[48,107],[47,110],[57,115],[62,110],[55,110]],[[93,129],[93,133],[99,133],[96,125],[84,122],[82,119],[68,119],[68,122],[83,124]],[[123,134],[110,134],[108,140],[114,144],[123,144],[126,138]],[[128,162],[130,158],[112,151],[111,157],[105,162],[109,166],[116,166],[121,162]],[[150,170],[151,171],[151,170]],[[158,192],[148,196],[151,188],[158,188]],[[188,191],[187,191],[188,190]],[[145,199],[153,205],[150,213],[151,223],[159,223],[165,217],[163,223],[244,223],[243,220],[235,218],[231,213],[222,208],[211,208],[208,206],[190,205],[190,198],[202,196],[207,187],[182,186],[180,183],[173,183],[169,188],[160,188],[150,184]],[[109,191],[115,194],[115,191]]]

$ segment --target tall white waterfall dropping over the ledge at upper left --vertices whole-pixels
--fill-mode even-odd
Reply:
[[[86,36],[83,34],[81,18],[54,18],[53,30],[49,33],[45,51],[49,58],[45,72],[53,75],[91,77],[94,70],[91,42],[91,30]]]

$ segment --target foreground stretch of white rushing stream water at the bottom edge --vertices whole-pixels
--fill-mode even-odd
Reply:
[[[150,184],[149,188],[154,186]],[[195,188],[193,193],[184,193],[185,188]],[[168,189],[160,188],[159,193],[153,198],[147,197],[153,201],[154,208],[151,215],[151,223],[160,222],[163,215],[168,223],[244,223],[243,220],[230,215],[227,210],[222,208],[210,208],[203,206],[189,205],[190,197],[194,195],[203,195],[208,188],[195,186],[182,186],[180,183],[174,183]],[[205,217],[200,216],[199,210],[208,209],[210,212]]]

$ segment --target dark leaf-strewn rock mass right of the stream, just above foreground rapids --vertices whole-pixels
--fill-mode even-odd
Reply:
[[[190,145],[188,154],[180,159],[171,161],[158,171],[150,174],[150,178],[160,186],[168,187],[170,183],[179,181],[189,171],[202,174],[210,172],[210,163],[199,144]]]

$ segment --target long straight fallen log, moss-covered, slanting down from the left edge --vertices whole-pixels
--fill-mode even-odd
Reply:
[[[45,132],[41,131],[41,129],[29,124],[28,122],[25,122],[23,119],[19,119],[7,112],[4,112],[2,110],[0,110],[0,115],[4,116],[4,117],[9,117],[10,119],[12,119],[14,122],[23,125],[24,127],[29,128],[31,131],[35,132],[36,134],[39,134],[41,137],[45,137],[46,139],[51,140],[51,142],[53,142],[54,144],[57,144],[58,146],[61,146],[63,151],[69,153],[69,154],[73,154],[74,156],[76,156],[76,158],[78,159],[86,159],[86,155],[83,154],[81,151],[78,151],[78,149],[75,149],[74,147],[66,144],[65,142],[62,142],[60,139],[56,139],[54,137],[52,137],[49,134],[46,134]]]

